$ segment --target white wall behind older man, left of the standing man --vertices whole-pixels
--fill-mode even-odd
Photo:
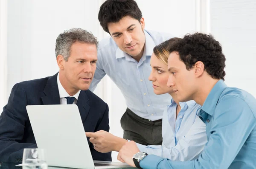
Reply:
[[[8,1],[8,95],[20,81],[58,71],[55,39],[65,29],[84,28],[99,37],[98,1]]]

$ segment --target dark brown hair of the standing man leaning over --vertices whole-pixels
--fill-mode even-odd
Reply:
[[[99,23],[108,33],[108,23],[117,23],[126,16],[140,22],[142,13],[134,0],[106,0],[99,8]]]

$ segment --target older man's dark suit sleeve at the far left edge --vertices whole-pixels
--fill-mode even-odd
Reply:
[[[29,120],[26,105],[25,90],[16,84],[0,115],[0,162],[21,162],[24,148],[37,147],[36,144],[22,143]]]

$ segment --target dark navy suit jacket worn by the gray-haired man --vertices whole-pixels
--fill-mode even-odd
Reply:
[[[20,82],[12,88],[0,115],[0,162],[21,162],[24,148],[37,147],[26,105],[60,104],[57,75]],[[102,99],[90,90],[81,90],[76,104],[85,132],[109,131],[108,104]],[[97,152],[87,140],[93,160],[111,161],[111,152]]]

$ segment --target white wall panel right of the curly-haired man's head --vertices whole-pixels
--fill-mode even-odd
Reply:
[[[256,1],[212,0],[210,32],[226,56],[225,82],[256,97]]]

